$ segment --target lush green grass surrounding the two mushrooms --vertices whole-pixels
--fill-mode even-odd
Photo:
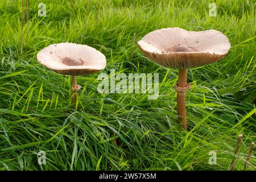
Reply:
[[[38,3],[47,16],[39,17]],[[209,3],[217,17],[209,17]],[[255,2],[232,1],[31,1],[20,53],[21,1],[0,2],[0,169],[2,170],[226,170],[237,136],[243,142],[236,170],[256,138]],[[177,71],[148,60],[136,40],[163,27],[216,29],[232,45],[222,61],[188,71],[189,131],[177,124]],[[100,94],[97,74],[79,76],[77,111],[70,78],[36,60],[53,43],[92,46],[107,67],[122,73],[159,73],[157,100],[148,94]],[[118,146],[113,140],[117,139]],[[47,163],[37,153],[46,151]],[[210,165],[209,152],[217,152]],[[247,169],[255,170],[255,150]]]

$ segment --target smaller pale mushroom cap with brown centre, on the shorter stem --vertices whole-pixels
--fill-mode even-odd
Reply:
[[[81,44],[51,44],[36,57],[40,64],[62,75],[90,75],[106,67],[106,57],[100,51]]]

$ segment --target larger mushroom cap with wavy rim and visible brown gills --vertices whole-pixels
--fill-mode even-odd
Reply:
[[[220,61],[229,52],[229,39],[217,30],[163,28],[143,36],[139,48],[164,67],[185,69]]]

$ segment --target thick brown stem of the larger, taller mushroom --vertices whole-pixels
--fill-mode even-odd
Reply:
[[[187,69],[179,69],[179,78],[178,78],[177,86],[179,86],[181,89],[188,86]],[[185,90],[177,90],[178,120],[181,126],[183,127],[183,129],[188,130],[185,97],[186,97]]]

